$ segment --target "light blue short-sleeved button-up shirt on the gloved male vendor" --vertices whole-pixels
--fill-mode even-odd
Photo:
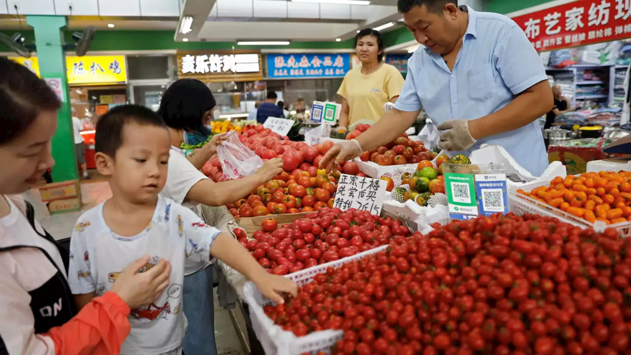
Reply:
[[[547,80],[543,63],[524,32],[510,18],[468,8],[469,25],[452,71],[442,56],[421,46],[408,60],[408,76],[394,107],[425,108],[437,125],[452,119],[492,114],[515,95]],[[541,128],[535,121],[522,128],[481,138],[468,154],[488,143],[500,145],[534,176],[548,166]]]

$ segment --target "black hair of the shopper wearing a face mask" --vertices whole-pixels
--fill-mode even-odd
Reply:
[[[204,126],[204,116],[216,104],[206,84],[196,79],[180,79],[162,95],[158,114],[170,128],[210,135]]]

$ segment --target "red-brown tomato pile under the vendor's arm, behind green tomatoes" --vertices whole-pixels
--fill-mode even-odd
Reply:
[[[349,133],[350,135],[350,133]],[[348,138],[348,136],[347,136]],[[413,141],[403,133],[396,140],[373,150],[362,153],[360,159],[379,165],[418,164],[422,160],[433,160],[435,153],[430,152],[422,141]]]

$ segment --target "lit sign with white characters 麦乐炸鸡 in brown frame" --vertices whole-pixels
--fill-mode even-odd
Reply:
[[[202,81],[262,80],[261,54],[253,52],[178,52],[180,78]]]

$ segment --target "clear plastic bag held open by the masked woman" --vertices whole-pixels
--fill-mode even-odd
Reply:
[[[217,157],[223,171],[223,178],[236,180],[254,174],[263,166],[263,160],[256,155],[235,135],[235,131],[228,132],[228,140],[217,147]]]

